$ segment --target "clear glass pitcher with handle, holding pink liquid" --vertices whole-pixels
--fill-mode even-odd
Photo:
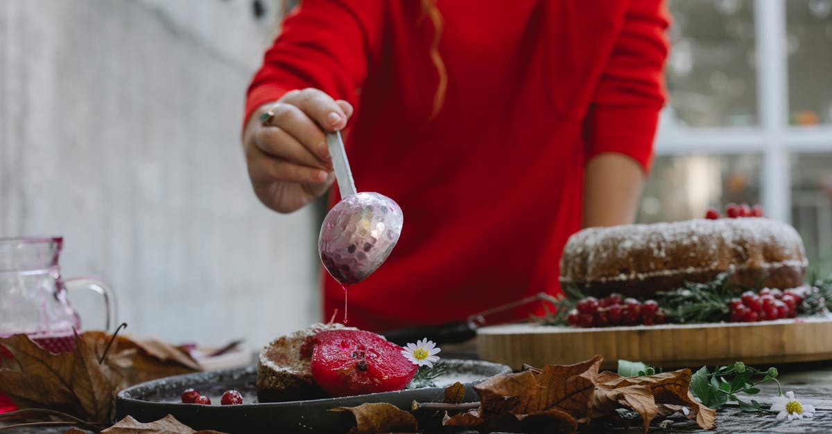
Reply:
[[[26,333],[52,353],[72,352],[81,319],[67,290],[90,289],[104,301],[106,329],[115,315],[112,291],[99,279],[62,279],[62,237],[0,238],[0,337]]]

